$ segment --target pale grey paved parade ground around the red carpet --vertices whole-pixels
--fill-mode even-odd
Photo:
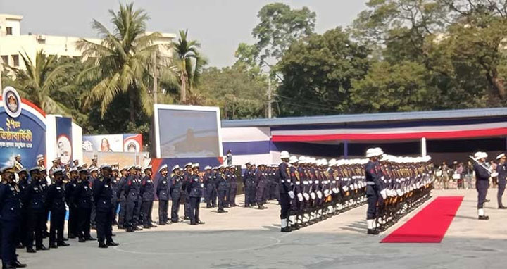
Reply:
[[[30,268],[505,268],[507,211],[495,209],[494,192],[486,208],[491,220],[479,221],[475,190],[435,191],[434,197],[465,196],[441,244],[379,243],[417,211],[379,236],[365,234],[365,206],[287,234],[280,232],[280,208],[271,204],[227,214],[201,208],[206,225],[115,231],[120,246],[109,249],[71,239],[65,248],[18,253]]]

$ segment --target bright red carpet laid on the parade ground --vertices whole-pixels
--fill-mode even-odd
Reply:
[[[380,243],[440,243],[463,196],[440,196]]]

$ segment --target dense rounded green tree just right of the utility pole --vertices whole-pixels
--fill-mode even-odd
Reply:
[[[284,77],[277,92],[281,115],[351,111],[352,81],[361,80],[368,71],[369,52],[341,27],[292,44],[277,68]]]

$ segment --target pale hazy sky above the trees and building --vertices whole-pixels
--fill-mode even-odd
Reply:
[[[131,2],[131,1],[129,1]],[[366,0],[136,0],[134,8],[149,14],[149,31],[177,33],[189,30],[190,39],[201,43],[210,66],[234,63],[234,51],[241,42],[253,44],[251,30],[258,23],[258,11],[268,3],[283,2],[292,8],[307,6],[317,14],[315,31],[322,33],[346,27],[365,9]],[[96,37],[92,19],[106,27],[108,10],[118,10],[118,0],[0,0],[0,13],[23,15],[22,34]]]

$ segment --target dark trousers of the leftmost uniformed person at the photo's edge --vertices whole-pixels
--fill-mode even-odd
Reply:
[[[19,221],[1,220],[0,256],[4,265],[12,265],[16,261],[15,246],[18,241]]]

